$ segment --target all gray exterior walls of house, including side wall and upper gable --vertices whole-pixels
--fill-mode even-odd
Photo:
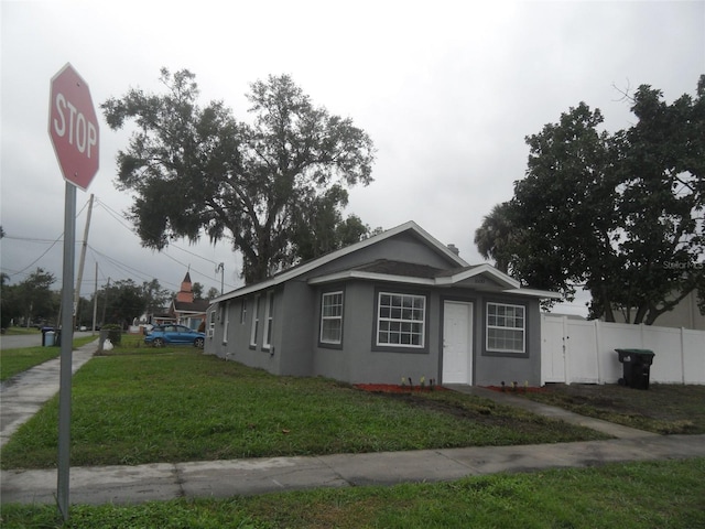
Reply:
[[[214,304],[213,336],[205,352],[241,361],[275,375],[325,376],[337,380],[371,384],[400,384],[402,377],[419,384],[443,384],[443,311],[445,301],[473,303],[471,384],[498,385],[517,381],[539,385],[541,379],[541,324],[539,302],[533,298],[502,294],[491,279],[468,279],[455,287],[416,285],[398,282],[350,279],[339,283],[308,284],[311,278],[368,264],[377,259],[456,268],[447,256],[409,233],[398,234],[378,245],[361,248],[314,270],[273,287],[272,339],[263,346],[268,290],[243,296],[245,323],[240,323],[242,298]],[[423,295],[426,299],[422,348],[377,346],[377,303],[380,291]],[[341,344],[321,343],[321,309],[325,292],[343,292]],[[259,296],[259,304],[256,300]],[[525,309],[525,352],[491,353],[486,347],[487,303],[509,303]],[[258,306],[257,345],[250,344],[252,321]],[[227,316],[228,335],[224,339]],[[210,320],[207,320],[209,322]]]

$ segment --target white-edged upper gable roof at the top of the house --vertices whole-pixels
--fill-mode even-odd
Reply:
[[[372,245],[377,245],[383,240],[387,240],[391,237],[394,237],[399,234],[402,234],[404,231],[410,231],[414,235],[416,235],[421,240],[423,240],[430,248],[433,248],[435,251],[437,251],[438,253],[445,256],[446,258],[448,258],[451,261],[456,262],[458,267],[467,267],[468,263],[465,262],[459,256],[457,256],[455,252],[453,252],[452,250],[449,250],[445,245],[443,245],[442,242],[440,242],[437,239],[435,239],[434,237],[432,237],[426,230],[424,230],[421,226],[419,226],[416,223],[414,223],[413,220],[410,220],[408,223],[404,223],[400,226],[397,226],[395,228],[391,228],[388,229],[386,231],[382,231],[381,234],[375,235],[372,237],[370,237],[369,239],[365,239],[365,240],[360,240],[359,242],[356,242],[354,245],[350,246],[346,246],[345,248],[340,248],[339,250],[335,250],[332,251],[330,253],[326,253],[325,256],[322,256],[317,259],[313,259],[308,262],[304,262],[302,264],[299,264],[296,267],[290,268],[288,270],[284,270],[280,273],[278,273],[276,276],[273,276],[270,279],[267,279],[264,281],[260,281],[258,283],[253,283],[253,284],[248,284],[247,287],[242,287],[241,289],[238,290],[234,290],[232,292],[228,292],[227,294],[224,294],[219,298],[216,298],[215,300],[213,300],[213,303],[217,303],[219,301],[227,301],[227,300],[231,300],[234,298],[240,298],[242,295],[247,295],[250,294],[252,292],[258,292],[260,290],[264,290],[264,289],[270,289],[272,287],[275,287],[278,284],[284,283],[291,279],[297,278],[304,273],[311,272],[313,270],[315,270],[316,268],[319,268],[324,264],[327,264],[328,262],[332,262],[336,259],[339,259],[344,256],[347,256],[349,253],[352,253],[355,251],[361,250],[364,248],[370,247]]]

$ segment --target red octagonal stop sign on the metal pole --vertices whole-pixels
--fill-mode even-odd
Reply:
[[[98,117],[88,85],[68,63],[52,77],[48,133],[64,180],[86,191],[98,172]]]

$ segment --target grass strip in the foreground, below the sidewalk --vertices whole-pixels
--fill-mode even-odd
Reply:
[[[7,529],[705,527],[705,458],[138,506],[2,507]]]

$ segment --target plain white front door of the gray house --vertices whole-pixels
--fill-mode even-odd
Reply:
[[[442,384],[473,384],[473,303],[443,303]]]

